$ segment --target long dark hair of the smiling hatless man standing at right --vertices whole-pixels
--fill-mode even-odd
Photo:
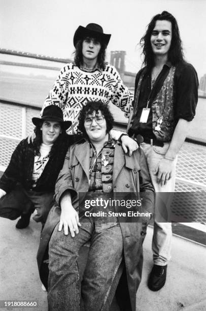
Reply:
[[[144,55],[143,64],[147,66],[148,69],[151,69],[154,66],[154,54],[152,51],[150,38],[157,20],[167,20],[171,22],[172,36],[171,45],[168,51],[168,60],[170,61],[171,65],[184,62],[182,40],[180,38],[177,20],[167,11],[163,11],[161,14],[157,14],[152,18],[151,22],[148,24],[145,35],[140,40],[140,45],[143,48],[142,54]]]

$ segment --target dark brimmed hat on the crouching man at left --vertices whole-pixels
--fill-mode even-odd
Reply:
[[[44,108],[42,117],[41,118],[32,118],[32,122],[35,126],[38,126],[40,122],[48,120],[48,121],[58,121],[61,123],[61,127],[64,130],[67,130],[71,127],[72,122],[71,121],[64,121],[63,120],[63,112],[61,108],[59,108],[56,105],[49,105],[46,108]]]

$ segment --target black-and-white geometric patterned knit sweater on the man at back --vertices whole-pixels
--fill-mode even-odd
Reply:
[[[67,134],[76,134],[80,110],[88,101],[105,104],[112,101],[128,116],[132,100],[133,95],[123,84],[115,67],[107,64],[105,70],[90,73],[70,63],[61,69],[42,110],[48,105],[60,107],[64,120],[73,123]]]

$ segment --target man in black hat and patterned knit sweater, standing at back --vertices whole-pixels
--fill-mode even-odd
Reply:
[[[106,105],[112,101],[126,114],[130,113],[133,95],[116,68],[105,63],[110,37],[98,24],[79,26],[74,35],[74,63],[62,68],[45,100],[43,108],[55,104],[63,110],[64,120],[72,121],[68,134],[77,133],[79,113],[88,101],[101,101]],[[132,139],[123,137],[129,150],[138,148]]]

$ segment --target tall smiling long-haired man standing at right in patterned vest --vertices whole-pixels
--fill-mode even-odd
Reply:
[[[198,79],[195,69],[184,60],[177,20],[170,13],[163,11],[152,18],[140,44],[145,67],[136,75],[128,133],[133,137],[143,136],[142,148],[155,191],[168,193],[164,201],[168,208],[169,193],[175,191],[177,155],[195,115]],[[160,208],[157,197],[156,216]],[[156,216],[152,242],[154,266],[148,281],[152,291],[165,284],[172,235],[171,223],[158,222]]]

